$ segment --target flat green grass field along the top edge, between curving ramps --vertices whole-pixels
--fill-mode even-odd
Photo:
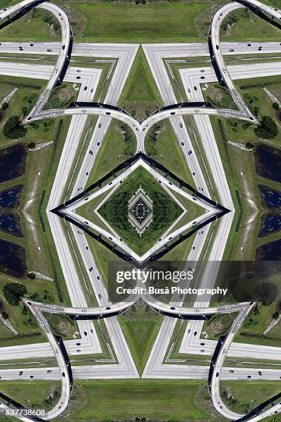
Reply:
[[[65,2],[56,1],[58,4]],[[213,6],[211,1],[91,2],[67,1],[77,41],[186,42],[200,41],[197,21]]]

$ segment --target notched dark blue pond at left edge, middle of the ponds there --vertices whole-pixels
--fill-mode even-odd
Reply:
[[[0,192],[0,230],[17,237],[23,237],[21,219],[17,214],[22,189],[23,185],[16,185]]]

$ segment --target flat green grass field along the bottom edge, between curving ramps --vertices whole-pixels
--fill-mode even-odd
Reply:
[[[149,420],[220,421],[210,409],[205,381],[76,381],[67,421]],[[65,418],[63,418],[65,420]]]

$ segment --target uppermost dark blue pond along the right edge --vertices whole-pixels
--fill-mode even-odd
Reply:
[[[258,143],[254,154],[257,174],[281,183],[281,150]]]

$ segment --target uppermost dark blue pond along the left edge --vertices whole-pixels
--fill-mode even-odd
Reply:
[[[26,156],[27,151],[23,143],[0,150],[0,183],[24,174]]]

